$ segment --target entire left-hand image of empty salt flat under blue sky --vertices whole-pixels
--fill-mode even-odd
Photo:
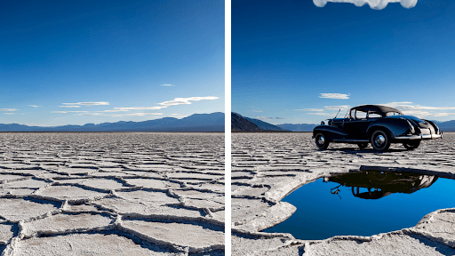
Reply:
[[[0,17],[0,255],[225,255],[226,1]]]

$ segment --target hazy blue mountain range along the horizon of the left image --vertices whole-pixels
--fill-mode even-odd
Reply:
[[[54,127],[0,124],[0,132],[225,132],[226,114],[194,114],[181,119],[164,117],[143,122],[64,125]]]

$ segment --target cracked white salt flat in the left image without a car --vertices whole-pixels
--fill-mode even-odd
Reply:
[[[0,133],[0,254],[224,255],[224,137]]]

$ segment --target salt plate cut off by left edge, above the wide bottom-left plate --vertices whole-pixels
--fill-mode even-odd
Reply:
[[[36,199],[32,196],[23,198],[0,198],[0,218],[11,222],[20,220],[38,220],[61,212],[61,203]]]

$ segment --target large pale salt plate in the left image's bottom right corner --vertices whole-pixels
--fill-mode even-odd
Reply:
[[[225,250],[224,225],[192,220],[128,218],[118,228],[152,244],[173,247],[176,252]]]

